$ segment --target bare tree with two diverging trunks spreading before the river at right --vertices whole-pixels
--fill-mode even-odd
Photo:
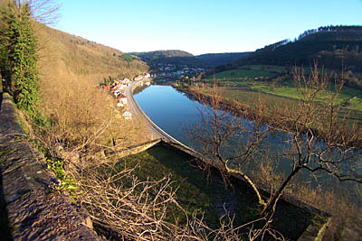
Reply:
[[[278,200],[302,170],[312,174],[324,172],[338,181],[362,183],[361,152],[357,150],[357,144],[361,143],[360,129],[346,116],[341,117],[335,105],[343,79],[336,80],[335,91],[329,91],[329,78],[319,75],[317,66],[309,77],[296,70],[294,79],[302,96],[295,107],[271,107],[259,101],[254,107],[243,107],[237,116],[231,116],[221,110],[225,105],[217,88],[207,96],[195,95],[210,107],[200,111],[202,124],[192,132],[203,148],[205,162],[217,167],[226,182],[231,174],[243,178],[262,206],[262,217],[272,217]],[[328,104],[316,103],[322,94],[328,95]],[[287,158],[291,168],[284,176],[278,176],[276,186],[263,183],[270,186],[271,192],[265,197],[258,185],[260,177],[252,176],[250,168],[257,171],[261,163],[271,162],[273,150],[267,150],[268,138],[275,132],[283,134],[285,144],[282,153],[272,158],[279,163]]]

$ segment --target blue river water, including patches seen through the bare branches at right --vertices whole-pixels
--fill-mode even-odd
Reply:
[[[187,97],[186,94],[177,91],[171,86],[152,85],[148,88],[138,89],[138,92],[135,93],[135,99],[156,125],[180,142],[195,148],[196,151],[201,151],[200,146],[189,137],[190,135],[187,131],[192,131],[195,125],[201,122],[199,110],[205,110],[208,107],[205,107],[195,99]],[[243,119],[243,124],[248,126],[248,128],[252,128],[252,122],[247,119]],[[265,125],[264,128],[268,128],[268,126]],[[248,141],[248,138],[250,136],[243,133],[236,137],[233,143],[243,145],[243,143]],[[274,131],[265,142],[265,149],[271,150],[269,153],[270,157],[278,160],[274,164],[275,170],[281,173],[290,172],[292,168],[291,156],[284,155],[286,153],[284,150],[291,148],[290,139],[291,136],[289,134]],[[323,145],[323,142],[319,142],[316,148],[323,148]],[[359,154],[361,153],[356,153],[356,155]],[[254,163],[250,168],[254,168],[255,165],[257,163]],[[339,182],[325,172],[317,172],[315,175],[310,175],[309,171],[302,171],[297,177],[296,181],[303,182],[314,188],[320,186],[328,190],[344,190],[345,193],[346,189],[348,189],[349,197],[357,203],[360,202],[361,185],[357,185],[354,182]],[[356,187],[358,190],[356,190]]]

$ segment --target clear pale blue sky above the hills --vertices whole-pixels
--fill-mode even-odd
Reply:
[[[119,51],[255,51],[326,25],[362,25],[362,0],[60,0],[52,27]]]

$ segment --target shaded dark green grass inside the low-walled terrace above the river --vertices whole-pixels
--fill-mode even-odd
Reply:
[[[125,167],[135,167],[135,174],[141,181],[160,180],[171,175],[176,192],[176,199],[186,209],[189,216],[198,213],[205,214],[205,222],[211,227],[219,226],[219,218],[224,214],[224,204],[231,214],[235,215],[234,225],[244,224],[258,217],[258,206],[252,192],[243,184],[238,184],[234,190],[227,189],[222,179],[190,165],[189,157],[180,155],[164,146],[155,146],[146,152],[122,158],[115,166],[114,171],[121,171]],[[185,221],[179,209],[170,207],[168,213],[170,221],[178,220],[179,224]],[[310,213],[296,208],[285,202],[280,202],[275,217],[280,220],[274,228],[285,236],[294,240],[310,224]]]

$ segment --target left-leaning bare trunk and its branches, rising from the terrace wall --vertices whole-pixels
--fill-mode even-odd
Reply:
[[[220,170],[225,183],[229,183],[229,176],[232,173],[241,175],[243,180],[248,182],[257,195],[259,204],[266,205],[262,198],[262,192],[252,178],[243,171],[242,167],[255,161],[255,153],[262,140],[271,132],[271,128],[262,128],[262,105],[254,108],[254,122],[247,126],[243,118],[232,116],[223,108],[222,97],[219,96],[217,88],[211,89],[211,95],[197,95],[196,98],[207,103],[210,108],[199,109],[202,118],[201,124],[197,125],[196,131],[191,131],[195,140],[201,144],[205,162]],[[262,104],[262,102],[260,103]],[[259,113],[258,113],[259,112]],[[243,116],[249,116],[248,110],[243,110]],[[237,136],[250,135],[251,138],[240,145],[241,138]],[[236,142],[236,143],[235,143]],[[238,148],[234,148],[234,146]],[[236,166],[235,166],[236,165]]]

